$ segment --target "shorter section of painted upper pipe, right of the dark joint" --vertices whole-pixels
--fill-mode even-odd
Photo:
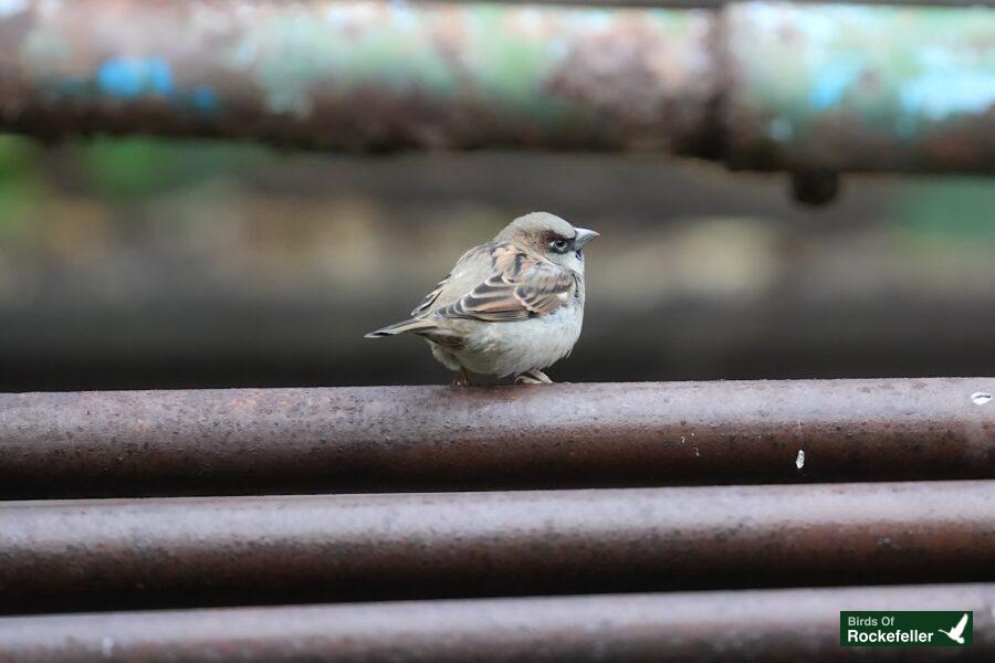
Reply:
[[[746,2],[726,25],[736,165],[995,170],[995,10]]]

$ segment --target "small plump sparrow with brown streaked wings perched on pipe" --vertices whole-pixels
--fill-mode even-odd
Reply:
[[[584,249],[599,233],[548,212],[512,221],[470,249],[411,311],[366,338],[416,334],[459,371],[548,385],[543,372],[568,356],[584,323]]]

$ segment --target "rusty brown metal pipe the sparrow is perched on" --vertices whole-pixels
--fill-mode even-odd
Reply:
[[[0,497],[995,477],[995,379],[0,394]]]

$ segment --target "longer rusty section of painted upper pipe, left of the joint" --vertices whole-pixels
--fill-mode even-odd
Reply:
[[[0,126],[694,151],[713,24],[704,10],[29,0],[0,14]]]

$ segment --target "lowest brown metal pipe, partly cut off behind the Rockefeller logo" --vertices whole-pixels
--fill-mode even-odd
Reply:
[[[995,585],[413,601],[0,619],[6,661],[837,660],[840,610],[971,610],[959,651],[995,657]],[[868,656],[871,650],[859,651]]]

